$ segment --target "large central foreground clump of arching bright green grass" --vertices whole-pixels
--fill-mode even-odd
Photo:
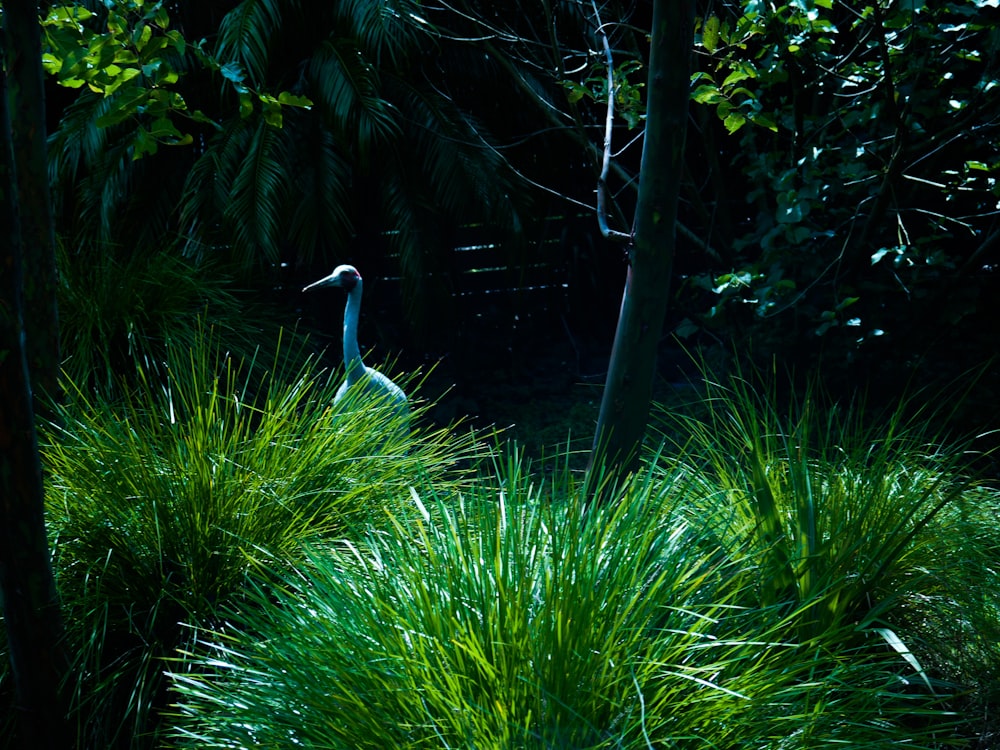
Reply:
[[[567,462],[569,458],[567,458]],[[568,463],[567,463],[568,465]],[[938,747],[909,659],[808,604],[745,606],[755,554],[684,520],[689,466],[593,506],[516,460],[316,548],[173,674],[182,747]],[[906,710],[903,710],[905,706]]]

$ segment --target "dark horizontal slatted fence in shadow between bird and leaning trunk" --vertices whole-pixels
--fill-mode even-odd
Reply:
[[[592,216],[555,217],[516,242],[482,225],[460,227],[416,293],[404,288],[399,258],[388,258],[371,299],[366,291],[367,315],[378,317],[379,338],[397,339],[397,348],[483,366],[518,366],[557,347],[576,359],[581,348],[605,350],[625,267],[620,251],[595,234]],[[392,320],[404,325],[386,326]]]

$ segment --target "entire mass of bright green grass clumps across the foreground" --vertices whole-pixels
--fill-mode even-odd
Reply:
[[[71,390],[45,432],[81,746],[993,731],[1000,496],[930,415],[708,382],[597,505],[568,450],[537,472],[419,401],[407,435],[331,408],[313,359],[198,340],[114,395]]]

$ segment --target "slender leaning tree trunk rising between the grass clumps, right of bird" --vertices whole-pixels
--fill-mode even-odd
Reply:
[[[693,46],[692,0],[654,0],[633,244],[590,473],[636,468],[653,394],[676,241]]]

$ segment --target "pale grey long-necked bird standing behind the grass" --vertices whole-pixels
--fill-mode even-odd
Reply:
[[[406,418],[405,427],[409,431],[409,403],[403,389],[382,373],[366,367],[361,361],[358,348],[358,318],[361,315],[361,292],[364,285],[361,274],[354,266],[340,265],[333,273],[304,287],[303,292],[327,286],[337,286],[347,292],[347,307],[344,308],[344,369],[347,377],[333,397],[337,405],[348,392],[357,395],[358,403],[386,406],[396,414]]]

